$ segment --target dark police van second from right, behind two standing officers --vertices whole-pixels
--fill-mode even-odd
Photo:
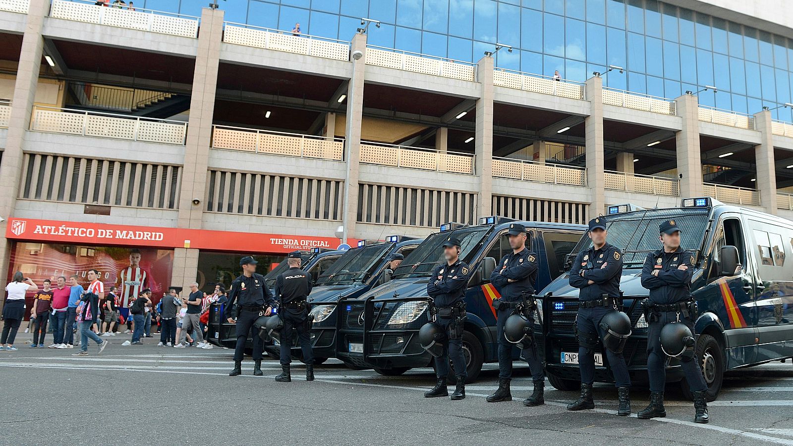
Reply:
[[[496,216],[480,219],[478,226],[446,223],[404,259],[388,284],[358,299],[343,299],[337,307],[336,357],[382,375],[400,375],[409,368],[427,367],[432,356],[419,344],[418,333],[429,320],[427,283],[443,260],[442,242],[450,236],[461,241],[460,259],[470,266],[465,306],[467,321],[462,337],[468,380],[473,382],[482,364],[498,360],[496,311],[500,297],[490,284],[490,273],[510,253],[508,222]],[[527,246],[538,257],[538,284],[542,288],[562,273],[567,254],[586,227],[567,223],[517,222],[527,227]],[[534,319],[538,321],[537,318]],[[539,326],[535,326],[539,330]],[[515,349],[515,357],[519,350]]]

